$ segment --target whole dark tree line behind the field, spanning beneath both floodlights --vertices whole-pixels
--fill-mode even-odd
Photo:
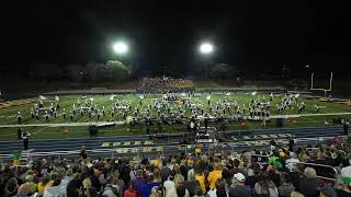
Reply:
[[[204,69],[203,69],[204,68]],[[160,70],[156,69],[156,70]],[[147,71],[137,66],[125,65],[118,60],[109,60],[106,62],[88,61],[86,63],[31,63],[23,66],[18,65],[2,65],[0,67],[0,79],[24,79],[33,81],[61,81],[67,80],[71,82],[124,82],[126,80],[136,80],[141,77],[159,77],[171,76],[176,78],[184,78],[188,76],[208,78],[213,80],[228,80],[236,79],[239,73],[238,68],[227,63],[215,63],[206,67],[195,67],[191,72],[180,73],[169,71],[165,73]],[[168,72],[169,73],[168,73]]]

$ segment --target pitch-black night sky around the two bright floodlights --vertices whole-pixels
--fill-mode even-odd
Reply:
[[[133,2],[133,3],[132,3]],[[230,2],[230,1],[229,1]],[[116,59],[111,44],[131,44],[129,63],[156,69],[204,61],[349,71],[350,11],[328,1],[25,1],[1,5],[1,61],[86,62]],[[3,3],[3,2],[2,2]]]

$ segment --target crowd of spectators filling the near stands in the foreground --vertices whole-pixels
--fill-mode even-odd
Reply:
[[[2,165],[0,196],[351,196],[350,146],[336,140],[293,150],[203,153],[199,146],[186,154],[116,159],[92,159],[82,150],[76,161],[43,159],[26,166]]]

